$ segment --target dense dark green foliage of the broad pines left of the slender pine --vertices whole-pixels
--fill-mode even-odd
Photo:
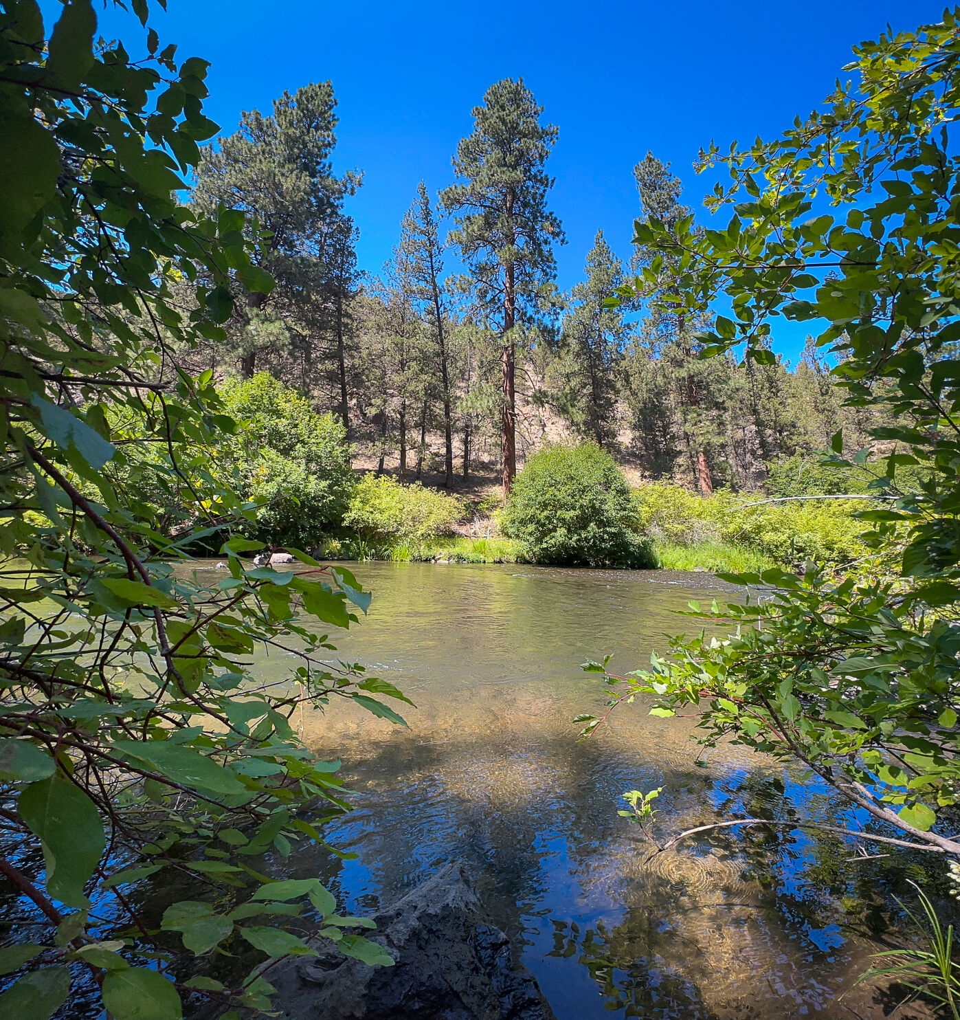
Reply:
[[[320,361],[340,395],[343,306],[356,279],[353,224],[342,203],[360,175],[334,175],[336,106],[333,86],[319,82],[285,92],[268,116],[244,112],[234,135],[204,151],[192,201],[207,213],[220,206],[247,213],[256,264],[276,280],[269,295],[249,286],[231,321],[244,374],[259,358],[300,381],[305,365]]]

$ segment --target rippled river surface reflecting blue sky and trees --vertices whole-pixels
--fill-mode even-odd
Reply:
[[[897,919],[893,896],[936,862],[850,861],[849,846],[788,828],[705,833],[644,863],[616,814],[629,788],[664,786],[671,832],[732,815],[856,823],[825,792],[734,749],[698,757],[691,722],[622,708],[579,743],[570,719],[604,697],[578,664],[633,669],[690,621],[690,599],[734,590],[708,575],[520,566],[361,564],[369,616],[343,658],[402,687],[408,729],[332,707],[304,720],[342,757],[357,810],[287,862],[373,910],[450,860],[525,946],[559,1020],[880,1016],[897,1000],[860,986],[838,1001]],[[734,593],[736,597],[736,593]],[[283,660],[265,673],[282,674]],[[787,798],[782,797],[787,793]],[[929,856],[929,855],[928,855]],[[901,1010],[898,1017],[925,1015]]]

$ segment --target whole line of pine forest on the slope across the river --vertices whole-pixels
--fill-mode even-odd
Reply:
[[[812,343],[794,365],[772,351],[703,360],[711,321],[637,288],[614,307],[662,254],[635,246],[624,264],[598,231],[582,280],[557,289],[557,129],[522,80],[488,90],[450,186],[433,195],[421,183],[393,257],[361,272],[346,200],[362,173],[334,172],[336,105],[330,82],[285,93],[204,150],[190,203],[245,212],[255,261],[276,283],[251,290],[248,272],[225,285],[228,341],[185,355],[189,367],[268,371],[340,417],[370,466],[448,488],[494,463],[506,490],[517,454],[565,438],[702,495],[761,486],[770,465],[825,449],[841,428],[866,442],[875,409],[844,406]],[[641,222],[692,215],[669,164],[648,152],[635,176]]]

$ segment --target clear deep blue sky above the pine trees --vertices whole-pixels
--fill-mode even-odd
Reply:
[[[168,0],[168,8],[152,23],[180,57],[211,61],[206,112],[224,132],[241,110],[268,110],[285,89],[333,81],[335,164],[364,172],[348,211],[360,228],[360,264],[372,272],[420,178],[434,191],[451,182],[470,108],[492,82],[521,75],[560,129],[551,202],[568,239],[558,252],[567,288],[598,228],[628,257],[631,167],[648,149],[672,163],[688,203],[699,204],[706,182],[691,164],[701,145],[778,133],[843,75],[852,44],[888,22],[909,30],[939,20],[943,0]],[[117,27],[103,16],[105,34]],[[122,36],[132,42],[137,32],[128,22]],[[795,356],[805,333],[785,324],[775,346]]]

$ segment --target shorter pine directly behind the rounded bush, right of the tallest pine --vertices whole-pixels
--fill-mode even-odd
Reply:
[[[617,366],[630,327],[620,308],[604,304],[622,285],[623,267],[603,231],[597,232],[586,270],[587,278],[570,292],[573,305],[564,316],[550,374],[557,409],[580,436],[604,447],[616,437]]]

